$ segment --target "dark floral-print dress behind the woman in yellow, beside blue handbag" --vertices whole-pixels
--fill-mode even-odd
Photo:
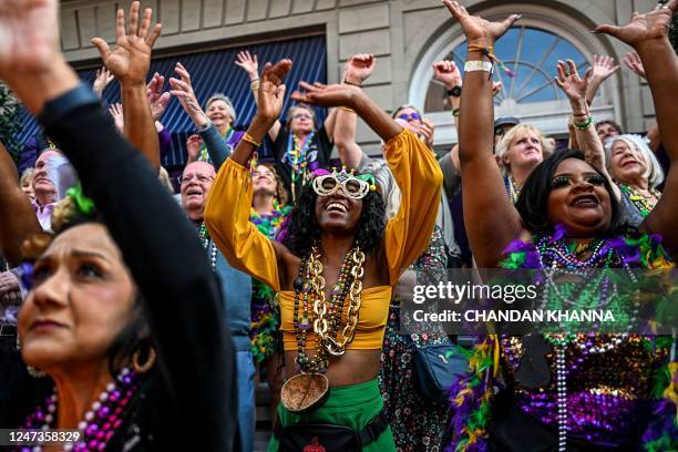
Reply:
[[[411,269],[424,279],[444,280],[445,257],[442,234],[438,226],[427,251]],[[436,284],[419,281],[418,284]],[[393,432],[398,451],[442,451],[446,441],[449,410],[445,404],[427,401],[419,391],[414,377],[413,342],[419,345],[444,343],[441,335],[428,332],[400,335],[400,298],[391,300],[381,353],[379,384],[387,419]]]

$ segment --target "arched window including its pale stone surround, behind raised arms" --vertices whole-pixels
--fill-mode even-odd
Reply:
[[[474,11],[487,20],[503,20],[521,11],[523,17],[496,43],[495,53],[515,73],[510,78],[495,66],[494,80],[503,83],[495,96],[495,116],[512,115],[533,124],[547,135],[567,135],[569,102],[555,84],[556,63],[572,59],[583,73],[594,54],[615,53],[605,40],[589,32],[576,12],[567,7],[514,3]],[[456,143],[456,129],[444,86],[433,81],[431,64],[453,59],[463,72],[466,41],[459,23],[445,21],[432,28],[421,53],[413,58],[408,103],[424,111],[435,124],[435,145],[444,148]],[[618,56],[617,56],[618,59]],[[590,111],[596,121],[619,116],[619,75],[608,79],[598,90]]]

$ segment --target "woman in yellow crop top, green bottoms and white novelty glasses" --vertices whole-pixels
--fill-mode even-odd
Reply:
[[[265,66],[256,115],[214,182],[205,224],[230,265],[279,292],[289,380],[269,451],[321,445],[329,452],[358,449],[358,443],[363,451],[394,450],[380,414],[380,348],[392,286],[429,244],[442,174],[425,145],[358,86],[302,83],[306,92],[295,92],[292,99],[351,109],[387,143],[384,154],[402,194],[400,210],[386,223],[370,175],[316,172],[280,242],[260,234],[249,223],[247,164],[281,113],[282,79],[290,68],[289,60]],[[330,389],[321,398],[323,383]],[[309,401],[316,403],[301,410]],[[346,430],[328,432],[327,424],[348,427],[357,436]]]

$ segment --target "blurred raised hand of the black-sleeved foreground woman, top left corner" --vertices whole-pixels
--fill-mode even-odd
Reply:
[[[40,72],[59,49],[56,0],[3,2],[0,8],[0,75],[4,80]]]

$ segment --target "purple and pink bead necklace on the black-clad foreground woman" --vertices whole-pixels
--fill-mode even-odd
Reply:
[[[125,410],[130,400],[138,389],[138,378],[133,370],[123,369],[106,389],[99,394],[97,400],[92,403],[92,408],[84,414],[84,419],[78,424],[81,439],[75,443],[65,443],[63,450],[69,452],[90,452],[103,451],[115,431],[122,425]],[[52,422],[56,412],[56,391],[48,397],[43,404],[38,405],[31,413],[22,429],[27,430],[48,430],[52,428]],[[42,448],[18,448],[21,452],[40,452]]]

